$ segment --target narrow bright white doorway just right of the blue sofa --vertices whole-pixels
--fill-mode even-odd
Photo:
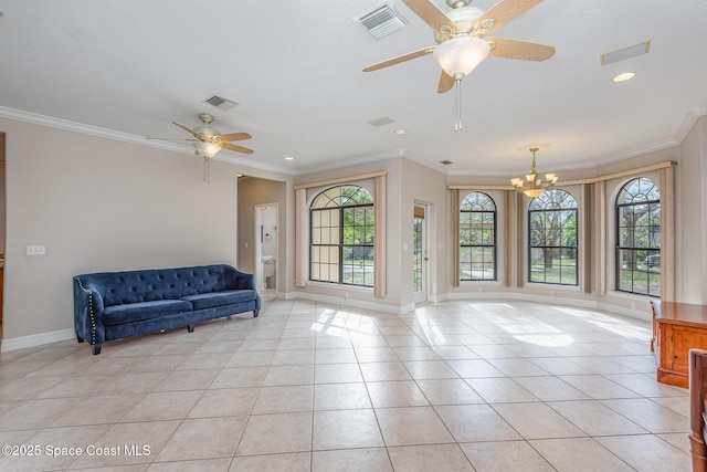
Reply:
[[[255,206],[255,281],[258,293],[277,292],[277,203]]]

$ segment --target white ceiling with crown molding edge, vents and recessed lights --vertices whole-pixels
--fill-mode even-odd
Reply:
[[[302,175],[405,156],[450,175],[511,176],[528,170],[532,145],[540,171],[592,167],[674,146],[707,114],[705,0],[545,0],[493,35],[555,56],[488,57],[463,81],[461,132],[432,56],[361,71],[434,45],[400,0],[408,24],[389,36],[352,21],[381,2],[0,0],[0,116],[189,153],[144,138],[186,138],[171,122],[194,127],[211,113],[221,133],[253,135],[239,144],[255,150],[217,157],[255,168]],[[646,40],[648,54],[601,65]],[[625,71],[635,78],[611,81]],[[239,105],[203,102],[213,95]],[[384,116],[394,123],[367,123]]]

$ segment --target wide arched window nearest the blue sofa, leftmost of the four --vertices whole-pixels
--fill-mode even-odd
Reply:
[[[373,286],[373,198],[362,187],[331,187],[310,211],[309,279]]]

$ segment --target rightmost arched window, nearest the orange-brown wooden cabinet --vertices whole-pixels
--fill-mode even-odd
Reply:
[[[661,192],[643,177],[616,196],[616,290],[661,296]]]

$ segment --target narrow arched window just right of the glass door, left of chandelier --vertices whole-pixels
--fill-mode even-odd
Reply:
[[[496,204],[473,191],[460,207],[460,280],[496,280]]]

